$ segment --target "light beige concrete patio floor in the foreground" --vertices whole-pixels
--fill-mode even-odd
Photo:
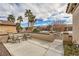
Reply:
[[[20,43],[4,43],[13,56],[63,56],[63,41],[54,42],[39,39],[28,39]]]

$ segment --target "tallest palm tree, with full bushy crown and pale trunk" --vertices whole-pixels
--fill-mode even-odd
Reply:
[[[33,24],[35,22],[35,16],[33,15],[30,9],[29,10],[26,9],[25,17],[28,17],[28,27],[29,27],[29,24],[30,24],[30,27],[33,27]]]

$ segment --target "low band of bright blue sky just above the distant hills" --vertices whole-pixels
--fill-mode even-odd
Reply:
[[[46,20],[42,19],[42,18],[39,18],[34,23],[34,26],[46,26],[46,25],[53,25],[53,24],[56,24],[56,23],[72,24],[72,17],[64,16],[64,17],[61,17],[59,19],[57,18],[57,20],[54,19],[53,17],[49,17]],[[21,26],[22,27],[28,27],[28,22],[27,21],[22,22]]]

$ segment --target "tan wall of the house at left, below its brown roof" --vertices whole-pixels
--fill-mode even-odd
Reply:
[[[0,25],[0,31],[16,33],[16,26]]]

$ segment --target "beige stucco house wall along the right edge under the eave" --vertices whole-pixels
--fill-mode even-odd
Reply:
[[[73,13],[73,42],[79,44],[79,6]]]

